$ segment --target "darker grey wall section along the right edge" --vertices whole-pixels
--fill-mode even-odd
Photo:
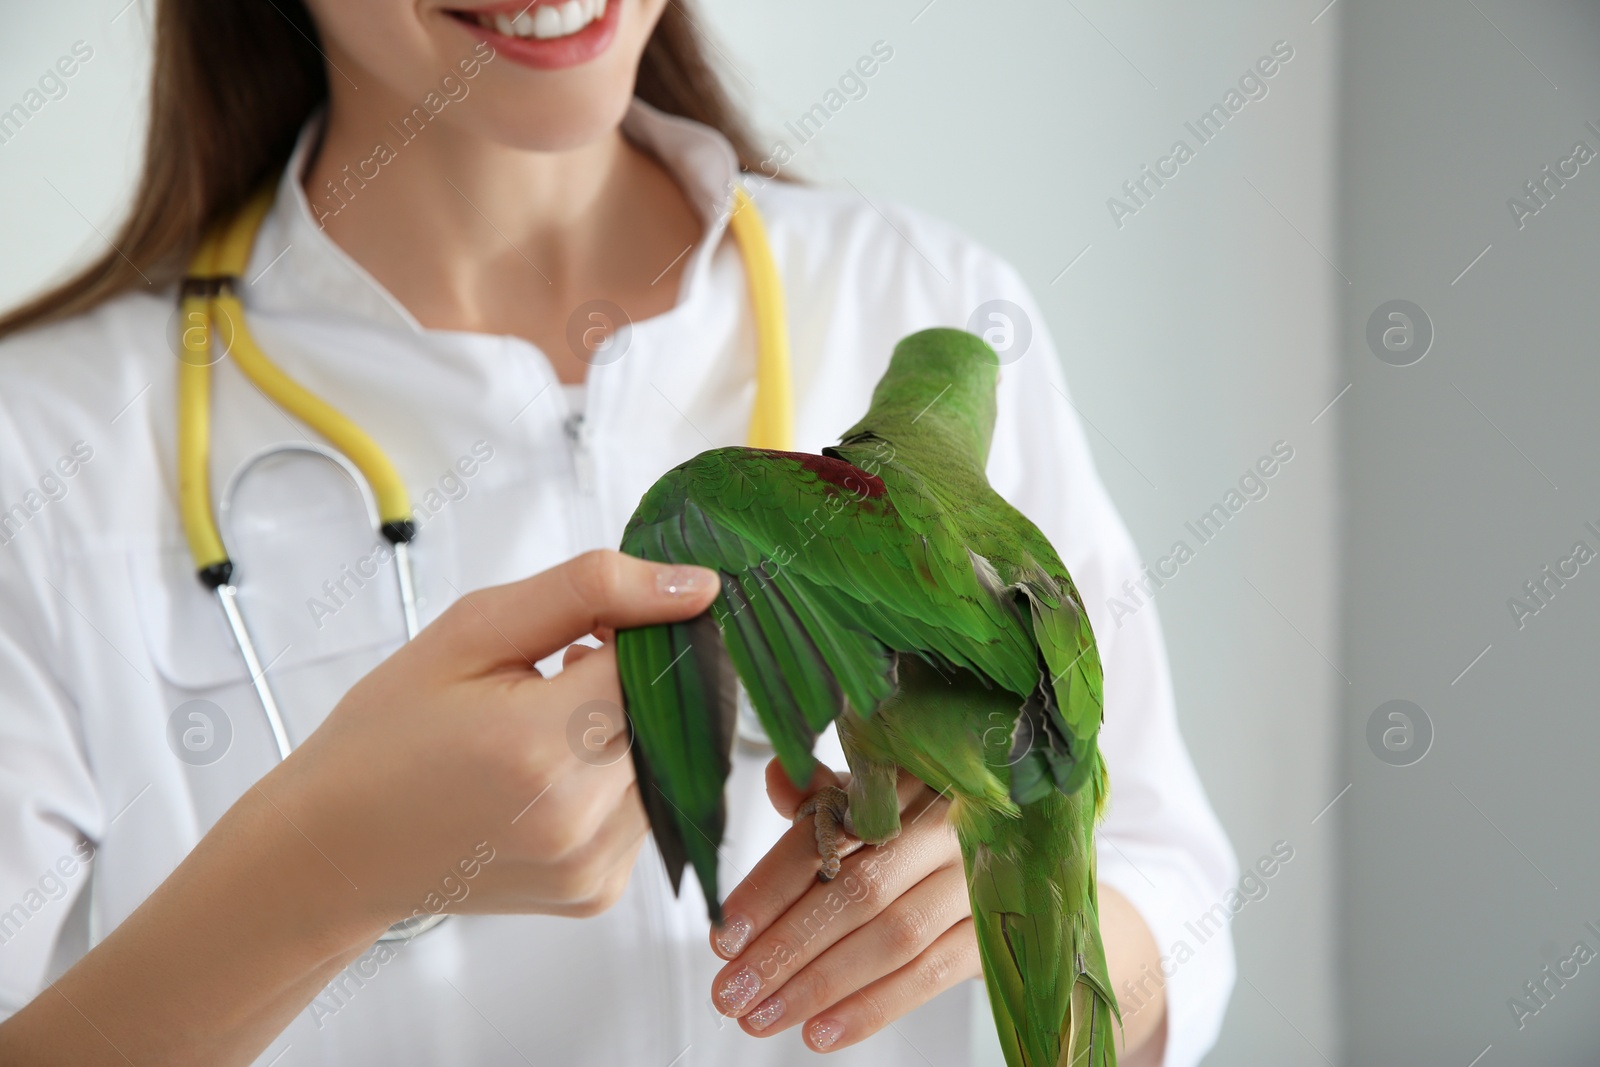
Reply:
[[[1600,549],[1600,162],[1547,179],[1522,226],[1509,202],[1538,206],[1525,182],[1579,141],[1600,152],[1600,8],[1354,0],[1346,19],[1352,1062],[1594,1064],[1600,977],[1562,961],[1600,950],[1600,577],[1542,568]],[[1434,323],[1413,366],[1363,339],[1397,298]],[[1397,697],[1434,728],[1400,768],[1365,739]]]

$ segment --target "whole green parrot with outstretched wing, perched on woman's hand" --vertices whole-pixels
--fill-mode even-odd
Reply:
[[[674,891],[693,865],[720,923],[736,683],[802,789],[837,720],[848,790],[797,816],[816,819],[818,877],[840,870],[840,829],[899,833],[914,774],[950,800],[1006,1064],[1114,1067],[1099,653],[1056,550],[989,486],[997,381],[982,339],[925,330],[821,456],[718,448],[651,486],[622,550],[712,568],[722,592],[616,635],[634,768]]]

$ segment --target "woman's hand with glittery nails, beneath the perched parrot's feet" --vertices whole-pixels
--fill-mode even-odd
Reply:
[[[766,792],[787,817],[810,793],[842,784],[821,768],[802,793],[776,760],[766,766]],[[728,894],[712,949],[730,963],[712,1000],[746,1033],[805,1024],[814,1051],[845,1048],[981,974],[949,801],[909,774],[899,795],[899,837],[853,843],[832,881],[816,880],[816,837],[802,819]]]

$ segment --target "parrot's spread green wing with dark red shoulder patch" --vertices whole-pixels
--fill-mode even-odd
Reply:
[[[640,793],[674,888],[691,864],[714,918],[734,721],[728,661],[784,771],[802,785],[818,733],[846,704],[870,715],[893,694],[898,653],[1013,693],[1040,686],[1035,619],[987,587],[981,557],[938,496],[893,459],[877,462],[870,446],[830,453],[702,453],[651,488],[622,536],[630,555],[722,576],[710,625],[702,616],[618,635]],[[1035,611],[1050,621],[1059,606],[1050,600]],[[1053,742],[1074,733],[1059,712],[1045,718]]]

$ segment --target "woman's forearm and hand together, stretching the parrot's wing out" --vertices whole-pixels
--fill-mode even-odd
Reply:
[[[0,1062],[248,1064],[395,920],[606,909],[646,832],[614,659],[533,664],[715,592],[701,568],[592,552],[462,597],[0,1024]]]

